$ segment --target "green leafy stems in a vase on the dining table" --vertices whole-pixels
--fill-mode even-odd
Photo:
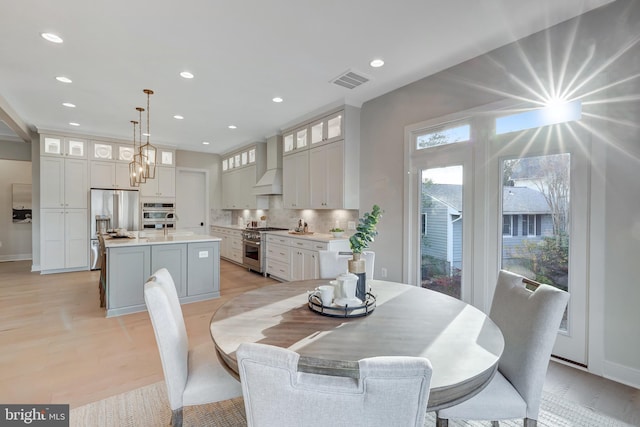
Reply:
[[[358,276],[356,296],[362,301],[366,299],[367,288],[365,262],[364,259],[360,257],[362,251],[367,249],[369,244],[374,241],[375,236],[378,235],[376,225],[380,221],[381,216],[382,211],[380,210],[380,206],[373,205],[371,213],[364,213],[362,218],[358,220],[356,232],[349,237],[349,246],[351,246],[351,252],[353,253],[353,260],[349,261],[349,272]]]

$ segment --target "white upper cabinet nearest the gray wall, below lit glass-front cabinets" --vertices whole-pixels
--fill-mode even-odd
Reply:
[[[313,209],[342,209],[344,141],[309,151],[309,205]]]

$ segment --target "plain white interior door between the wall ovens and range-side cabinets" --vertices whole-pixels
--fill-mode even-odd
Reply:
[[[209,234],[207,172],[183,168],[177,168],[176,172],[176,227],[195,234]]]

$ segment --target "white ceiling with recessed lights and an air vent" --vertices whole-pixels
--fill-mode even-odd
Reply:
[[[21,0],[0,15],[0,97],[33,130],[131,140],[150,88],[152,143],[225,153],[609,1]],[[347,70],[370,80],[331,83]]]

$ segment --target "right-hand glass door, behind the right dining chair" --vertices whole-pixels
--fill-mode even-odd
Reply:
[[[586,366],[589,144],[569,126],[495,142],[500,268],[571,294],[553,354]]]

